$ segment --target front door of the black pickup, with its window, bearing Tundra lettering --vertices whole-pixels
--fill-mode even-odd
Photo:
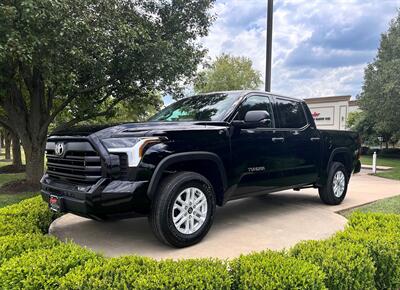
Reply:
[[[239,107],[235,120],[244,120],[248,111],[269,112],[271,123],[254,129],[233,128],[231,146],[233,176],[237,188],[231,198],[273,191],[283,173],[280,161],[284,156],[282,133],[275,130],[275,118],[268,96],[252,95]]]

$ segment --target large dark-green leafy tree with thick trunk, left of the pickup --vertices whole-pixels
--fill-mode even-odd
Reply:
[[[213,0],[3,0],[0,106],[21,139],[27,181],[43,174],[49,125],[115,115],[130,100],[189,82],[205,50]]]

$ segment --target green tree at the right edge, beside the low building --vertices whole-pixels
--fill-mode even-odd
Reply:
[[[400,132],[400,11],[389,30],[382,34],[374,61],[365,69],[360,107],[365,118],[382,136],[389,140]]]

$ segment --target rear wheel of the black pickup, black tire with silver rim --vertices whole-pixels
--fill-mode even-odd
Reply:
[[[340,182],[335,180],[336,177],[340,179]],[[325,186],[318,189],[319,197],[326,204],[340,204],[346,197],[348,183],[349,175],[346,167],[344,167],[340,162],[333,162],[329,169],[328,179]],[[337,191],[335,191],[335,189],[337,189]]]

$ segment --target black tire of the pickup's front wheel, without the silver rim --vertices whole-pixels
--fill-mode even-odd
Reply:
[[[209,231],[215,213],[215,195],[210,182],[197,173],[181,172],[174,174],[162,185],[153,216],[158,222],[163,240],[175,247],[187,247],[199,242]],[[175,227],[172,219],[173,206],[178,195],[189,187],[200,189],[207,199],[207,217],[203,225],[193,234],[183,234]]]

